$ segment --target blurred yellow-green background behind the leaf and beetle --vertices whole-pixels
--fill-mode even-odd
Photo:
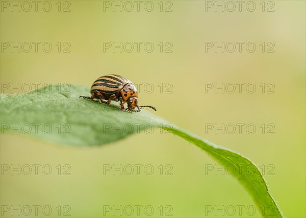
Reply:
[[[140,84],[140,105],[250,158],[284,215],[305,217],[304,1],[37,2],[1,1],[2,93],[28,92],[29,84],[90,87],[119,74]],[[159,129],[94,148],[8,132],[1,134],[2,216],[23,217],[30,207],[35,217],[35,205],[38,217],[49,208],[52,217],[268,214],[253,211],[246,190],[216,164]]]

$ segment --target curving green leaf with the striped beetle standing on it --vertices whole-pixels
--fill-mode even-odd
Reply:
[[[250,193],[259,211],[265,211],[262,215],[283,217],[258,167],[246,157],[201,139],[145,110],[139,113],[120,111],[118,103],[118,106],[103,105],[80,99],[80,95],[89,95],[89,89],[56,85],[27,94],[1,94],[1,132],[31,134],[73,146],[96,146],[144,128],[160,127],[195,144],[224,167],[235,166],[233,176]],[[249,172],[250,166],[255,170]]]

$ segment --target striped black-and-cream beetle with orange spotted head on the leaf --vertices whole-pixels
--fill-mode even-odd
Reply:
[[[148,107],[157,111],[153,106],[138,106],[138,93],[135,85],[120,75],[110,74],[99,77],[93,82],[90,93],[90,97],[80,96],[80,98],[98,99],[101,104],[108,105],[111,104],[111,101],[120,101],[120,110],[124,110],[124,104],[127,103],[125,110],[139,112],[141,108]],[[103,100],[107,100],[107,102]]]

